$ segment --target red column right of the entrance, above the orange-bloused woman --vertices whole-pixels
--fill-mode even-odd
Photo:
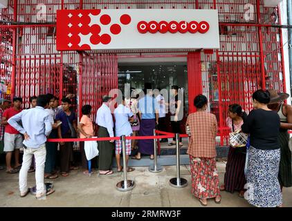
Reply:
[[[188,95],[189,114],[194,113],[194,97],[203,93],[201,73],[201,52],[188,53]]]

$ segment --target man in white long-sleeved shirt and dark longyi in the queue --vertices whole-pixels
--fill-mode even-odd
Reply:
[[[109,104],[112,97],[104,95],[102,97],[102,106],[98,108],[96,113],[95,123],[98,124],[98,137],[114,137],[113,135],[113,116],[111,115],[111,109]],[[98,141],[98,169],[100,170],[100,175],[110,175],[113,174],[111,171],[111,163],[113,160],[113,142],[110,141]]]

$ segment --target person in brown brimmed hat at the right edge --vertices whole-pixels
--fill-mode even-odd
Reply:
[[[268,92],[271,95],[268,108],[272,111],[277,111],[281,121],[280,135],[278,137],[281,150],[278,179],[282,190],[283,186],[292,186],[291,151],[289,149],[288,133],[288,130],[292,130],[292,106],[283,103],[289,97],[289,94],[277,93],[276,90],[272,89],[268,90]]]

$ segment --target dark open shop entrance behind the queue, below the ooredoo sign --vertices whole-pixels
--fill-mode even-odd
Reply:
[[[183,92],[183,124],[188,116],[188,66],[186,61],[176,62],[135,62],[118,64],[118,88],[125,95],[127,88],[143,90],[145,84],[151,84],[152,88],[159,88],[168,92],[165,101],[168,103],[172,97],[171,88],[177,85]],[[170,113],[167,114],[167,129],[170,128]]]

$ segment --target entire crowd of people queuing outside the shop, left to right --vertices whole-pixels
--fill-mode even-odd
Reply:
[[[150,88],[145,88],[150,89]],[[171,99],[174,133],[179,133],[179,114],[181,101],[177,95],[178,88],[172,88],[174,97]],[[156,126],[165,122],[161,110],[167,103],[160,93],[145,90],[144,97],[137,95],[126,99],[117,99],[118,106],[113,115],[109,108],[113,97],[102,96],[102,106],[96,113],[95,124],[98,126],[98,137],[148,136],[153,135]],[[154,95],[154,96],[153,96]],[[196,113],[188,115],[186,125],[189,131],[188,155],[190,155],[190,170],[192,177],[192,195],[198,198],[203,206],[208,205],[208,199],[221,203],[221,191],[239,192],[239,197],[246,198],[250,204],[259,207],[282,206],[282,188],[292,186],[291,151],[289,149],[288,130],[292,129],[292,106],[284,104],[289,95],[277,93],[275,90],[257,90],[253,93],[253,107],[249,115],[238,104],[228,108],[226,125],[230,132],[241,130],[250,137],[246,146],[234,148],[230,146],[223,184],[219,185],[219,174],[216,165],[217,119],[208,113],[208,99],[204,95],[194,98]],[[138,99],[139,98],[139,99]],[[33,103],[35,100],[35,103]],[[77,125],[77,117],[71,110],[71,99],[58,99],[54,95],[39,95],[32,97],[31,108],[21,110],[22,99],[15,97],[11,102],[2,99],[0,106],[2,140],[6,152],[6,172],[19,173],[19,189],[21,197],[28,193],[27,173],[31,167],[35,169],[37,184],[37,199],[46,192],[44,178],[58,177],[56,170],[57,143],[46,142],[48,138],[75,138],[80,133],[81,138],[94,136],[94,124],[91,121],[92,107],[82,106],[82,117]],[[162,106],[161,106],[162,105]],[[179,110],[177,110],[179,109]],[[31,121],[29,119],[37,119]],[[159,128],[159,127],[158,127]],[[5,131],[3,136],[3,131]],[[1,135],[1,133],[0,133]],[[171,146],[171,142],[169,145]],[[140,160],[141,154],[153,159],[153,141],[139,140],[138,152],[132,157]],[[60,142],[60,175],[66,177],[74,166],[72,142]],[[22,166],[19,163],[19,148],[24,146]],[[136,141],[126,140],[126,165],[129,161]],[[181,145],[180,145],[181,146]],[[15,166],[11,166],[12,153],[15,151]],[[113,153],[116,154],[118,172],[122,171],[120,155],[122,144],[120,140],[98,141],[98,169],[100,175],[111,175]],[[89,173],[84,151],[84,142],[80,142],[82,169]],[[35,163],[33,163],[33,157]],[[127,166],[127,171],[134,168]]]

